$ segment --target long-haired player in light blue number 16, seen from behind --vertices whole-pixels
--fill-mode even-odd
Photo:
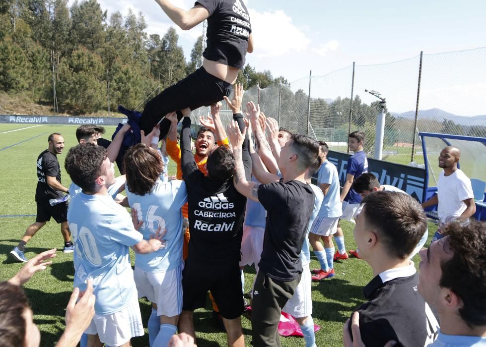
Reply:
[[[148,320],[150,346],[167,346],[177,331],[182,311],[181,207],[187,201],[186,184],[177,179],[163,182],[160,153],[141,143],[127,151],[124,167],[128,203],[142,223],[139,231],[143,238],[149,240],[159,228],[167,230],[163,248],[135,255],[134,274],[139,297],[145,296],[152,302]]]

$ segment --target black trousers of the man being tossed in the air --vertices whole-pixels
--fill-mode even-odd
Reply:
[[[159,95],[150,100],[143,109],[140,117],[140,129],[145,134],[166,114],[186,108],[196,110],[202,106],[209,106],[229,97],[233,86],[200,67],[176,84],[165,88]],[[182,114],[178,114],[179,120]],[[164,138],[170,127],[170,121],[164,119],[160,126],[160,138]]]

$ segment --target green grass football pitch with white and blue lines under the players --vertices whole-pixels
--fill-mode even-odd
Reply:
[[[106,127],[108,138],[115,127]],[[34,124],[0,124],[0,280],[13,276],[22,266],[7,257],[8,252],[17,244],[25,229],[35,221],[34,201],[36,187],[36,159],[48,146],[47,137],[52,132],[63,134],[66,147],[58,156],[62,180],[69,187],[69,175],[64,170],[64,159],[71,146],[76,142],[75,126]],[[17,131],[11,131],[17,130]],[[173,162],[169,174],[175,174]],[[28,217],[21,217],[27,215]],[[4,217],[15,216],[15,217]],[[353,225],[343,223],[347,249],[356,247],[352,236]],[[436,227],[429,224],[429,241]],[[428,242],[426,244],[428,246]],[[63,239],[60,227],[51,220],[26,246],[25,255],[32,258],[44,250],[62,249]],[[311,252],[311,269],[318,268],[318,262]],[[418,266],[418,257],[414,259]],[[370,267],[358,259],[348,259],[335,263],[336,277],[312,284],[314,322],[321,326],[316,333],[318,346],[342,346],[343,324],[354,308],[360,305],[364,296],[362,287],[372,278]],[[210,269],[208,269],[210,271]],[[246,267],[245,292],[249,292],[255,276],[253,267]],[[65,325],[65,308],[72,291],[74,269],[72,254],[58,251],[54,263],[45,271],[37,273],[25,286],[34,311],[34,321],[41,331],[41,346],[54,346],[61,336]],[[144,326],[150,314],[149,303],[140,299]],[[211,319],[211,305],[194,313],[198,346],[225,346],[226,335],[219,332]],[[242,317],[243,333],[247,346],[251,346],[251,323]],[[282,338],[283,346],[305,346],[302,338]],[[148,346],[148,335],[133,339],[133,346]]]

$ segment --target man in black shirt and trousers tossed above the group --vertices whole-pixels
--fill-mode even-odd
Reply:
[[[207,47],[202,67],[147,103],[140,118],[140,129],[145,133],[170,112],[177,111],[180,120],[179,110],[195,110],[228,97],[245,64],[246,53],[253,52],[250,16],[241,0],[197,0],[187,11],[167,0],[156,2],[182,30],[207,19]],[[160,138],[167,135],[169,127],[170,122],[164,119]]]

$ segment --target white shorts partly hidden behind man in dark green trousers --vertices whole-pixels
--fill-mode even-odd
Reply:
[[[293,296],[283,306],[282,311],[294,318],[312,315],[311,273],[309,264],[302,265],[302,277]]]

